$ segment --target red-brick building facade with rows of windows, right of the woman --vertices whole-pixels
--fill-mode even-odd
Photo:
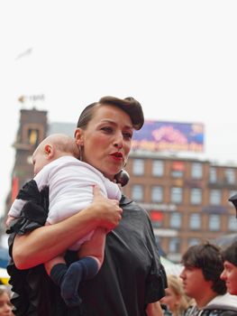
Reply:
[[[228,199],[237,191],[237,167],[208,161],[135,153],[126,166],[124,193],[150,212],[155,236],[170,260],[188,246],[237,233]]]

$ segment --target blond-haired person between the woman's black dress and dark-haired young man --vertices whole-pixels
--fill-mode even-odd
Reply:
[[[183,316],[188,308],[188,298],[184,293],[183,283],[178,275],[168,274],[168,288],[160,302],[167,305],[173,316]]]

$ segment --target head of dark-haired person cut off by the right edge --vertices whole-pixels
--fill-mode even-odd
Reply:
[[[222,254],[223,272],[221,279],[225,282],[228,293],[237,295],[237,241],[226,247]]]

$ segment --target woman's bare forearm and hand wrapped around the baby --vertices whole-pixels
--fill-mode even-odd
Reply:
[[[95,187],[94,201],[87,209],[57,224],[16,236],[13,246],[14,264],[18,269],[28,269],[49,261],[96,227],[113,229],[118,225],[121,214],[118,201],[106,199]]]

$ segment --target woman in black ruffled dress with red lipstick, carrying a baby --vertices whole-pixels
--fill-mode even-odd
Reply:
[[[75,131],[81,161],[114,181],[127,162],[133,131],[140,130],[143,122],[141,105],[134,98],[104,97],[87,106]],[[99,191],[95,193],[86,209],[54,225],[42,226],[30,216],[15,223],[9,238],[13,261],[8,271],[13,289],[25,281],[23,291],[13,300],[16,315],[30,315],[30,311],[32,316],[162,315],[159,301],[165,295],[167,278],[149,214],[123,195],[121,215],[117,205]],[[41,196],[42,202],[47,201],[47,191]],[[47,208],[45,213],[46,220]],[[94,278],[79,284],[81,304],[68,308],[41,264],[97,227],[114,228],[106,235],[104,263]],[[67,251],[68,265],[76,255]]]

